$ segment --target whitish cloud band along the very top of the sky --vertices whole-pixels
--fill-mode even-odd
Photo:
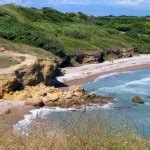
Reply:
[[[19,5],[50,5],[50,4],[82,4],[82,5],[120,5],[150,6],[149,0],[0,0],[0,4],[16,3]]]

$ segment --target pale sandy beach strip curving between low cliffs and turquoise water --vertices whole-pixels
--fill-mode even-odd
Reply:
[[[64,75],[57,77],[57,80],[68,86],[82,85],[111,73],[148,68],[150,68],[150,55],[138,55],[131,58],[116,59],[113,62],[105,61],[104,63],[64,68],[62,69]]]

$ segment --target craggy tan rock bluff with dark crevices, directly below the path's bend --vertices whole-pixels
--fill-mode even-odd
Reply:
[[[35,86],[39,83],[50,85],[50,80],[57,69],[55,62],[51,60],[38,60],[31,66],[24,66],[15,72],[16,78],[25,86]]]

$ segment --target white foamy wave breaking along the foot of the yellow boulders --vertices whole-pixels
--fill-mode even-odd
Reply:
[[[91,106],[81,106],[80,108],[42,107],[39,109],[31,110],[30,114],[25,115],[23,120],[20,120],[17,124],[13,126],[13,129],[15,132],[21,133],[23,135],[28,135],[28,127],[30,126],[32,121],[36,119],[47,119],[48,115],[50,115],[52,112],[69,112],[77,110],[89,110],[95,108],[112,109],[112,105],[113,103],[105,104],[103,106],[91,104]]]

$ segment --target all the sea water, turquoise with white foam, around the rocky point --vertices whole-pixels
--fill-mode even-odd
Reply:
[[[40,108],[32,110],[23,120],[14,125],[26,133],[28,126],[38,116],[46,120],[51,129],[58,130],[80,124],[85,117],[95,117],[98,121],[108,121],[114,128],[129,126],[129,130],[150,139],[150,70],[116,73],[95,79],[84,85],[85,90],[98,95],[112,96],[114,101],[104,106],[82,106],[80,109]],[[133,104],[132,97],[140,96],[143,105]],[[99,120],[100,118],[100,120]],[[23,130],[22,130],[23,129]]]

